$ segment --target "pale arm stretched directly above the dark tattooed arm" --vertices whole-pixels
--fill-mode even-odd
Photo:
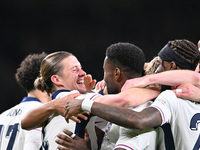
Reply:
[[[109,94],[96,97],[94,101],[112,106],[136,107],[156,98],[158,94],[160,94],[160,92],[154,89],[130,88],[120,92],[119,94]]]

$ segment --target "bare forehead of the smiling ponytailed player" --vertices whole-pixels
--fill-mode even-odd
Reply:
[[[75,56],[69,56],[67,58],[64,58],[61,63],[62,65],[64,65],[65,67],[69,69],[75,66],[81,66],[80,62]]]

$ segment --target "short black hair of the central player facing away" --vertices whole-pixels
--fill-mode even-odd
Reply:
[[[107,59],[124,71],[128,78],[144,73],[145,56],[143,51],[131,43],[116,43],[106,50]]]

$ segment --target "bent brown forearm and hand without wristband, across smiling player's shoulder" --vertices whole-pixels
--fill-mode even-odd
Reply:
[[[67,101],[74,99],[78,95],[80,94],[70,94]],[[29,111],[21,121],[22,128],[31,130],[34,128],[42,127],[43,123],[55,112],[64,115],[64,106],[66,105],[67,101],[65,101],[63,98],[55,99]]]

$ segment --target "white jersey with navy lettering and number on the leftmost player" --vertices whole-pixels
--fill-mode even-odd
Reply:
[[[30,131],[21,128],[21,119],[27,112],[42,103],[33,97],[23,101],[0,115],[1,150],[38,150],[41,146],[41,128]]]

